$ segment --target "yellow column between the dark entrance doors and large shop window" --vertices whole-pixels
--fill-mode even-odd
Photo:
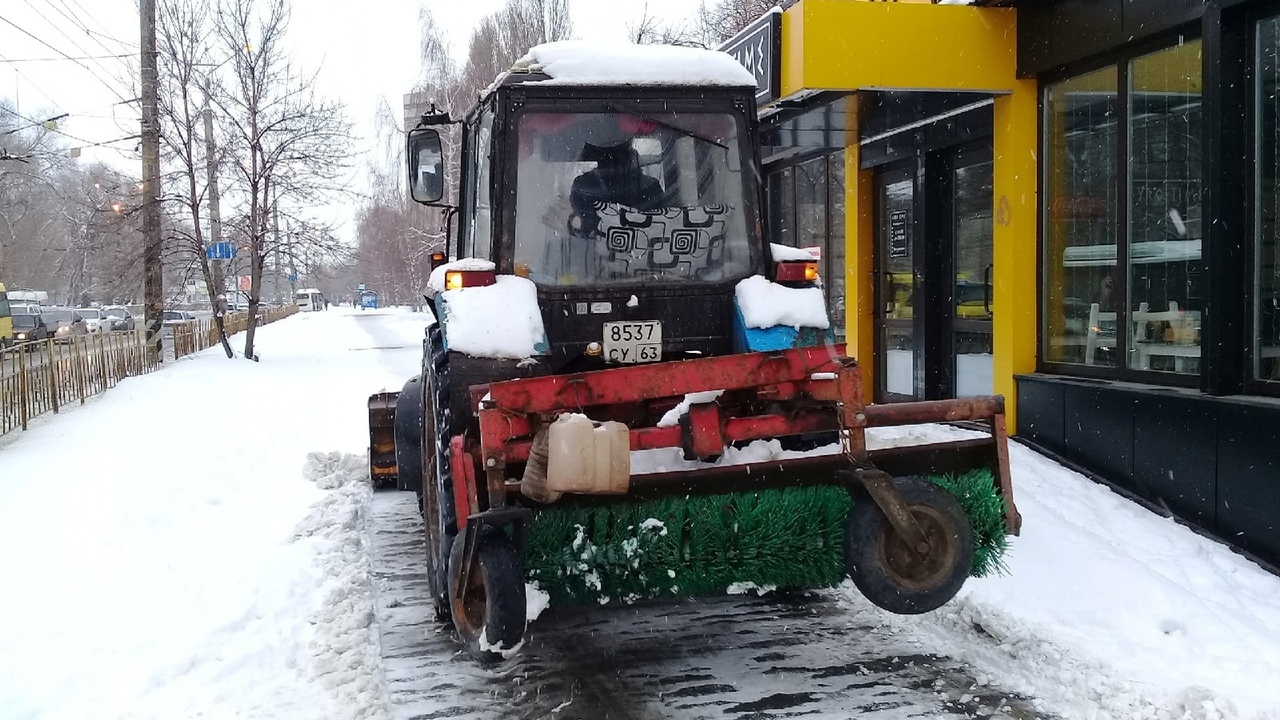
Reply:
[[[1015,374],[1036,370],[1036,82],[1016,81],[995,105],[995,375],[1009,432],[1018,428]]]

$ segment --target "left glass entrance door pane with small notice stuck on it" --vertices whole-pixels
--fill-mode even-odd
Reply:
[[[876,400],[924,397],[916,314],[915,164],[876,173]]]

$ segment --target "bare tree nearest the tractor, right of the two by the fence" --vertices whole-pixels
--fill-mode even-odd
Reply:
[[[229,124],[229,164],[244,205],[238,229],[250,255],[244,355],[251,359],[268,256],[296,264],[300,255],[340,251],[330,228],[300,209],[343,192],[338,181],[351,145],[342,105],[317,97],[315,74],[301,74],[288,60],[285,1],[261,5],[259,12],[255,0],[224,0],[214,29],[230,64],[225,94],[215,101]],[[287,236],[276,232],[279,215],[291,228]]]

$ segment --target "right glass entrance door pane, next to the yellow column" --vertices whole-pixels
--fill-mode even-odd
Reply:
[[[992,161],[991,147],[977,147],[952,156],[951,167],[951,265],[955,292],[951,299],[951,357],[946,361],[955,378],[954,397],[995,392],[992,361]]]

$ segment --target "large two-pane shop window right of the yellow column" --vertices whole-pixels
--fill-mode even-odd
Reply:
[[[1044,140],[1044,360],[1198,374],[1201,41],[1047,86]]]

